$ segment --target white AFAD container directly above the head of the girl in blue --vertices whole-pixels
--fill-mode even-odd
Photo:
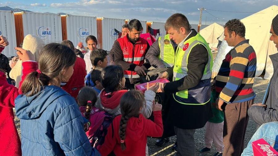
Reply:
[[[22,12],[24,37],[37,35],[45,44],[62,42],[61,17],[52,13]]]

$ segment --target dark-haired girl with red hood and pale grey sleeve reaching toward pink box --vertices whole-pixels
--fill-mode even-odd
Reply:
[[[105,110],[113,117],[121,114],[120,99],[128,91],[124,88],[123,69],[119,65],[105,67],[101,73],[101,84],[104,89],[99,93],[96,107]],[[142,108],[141,113],[146,118],[149,118],[152,114],[152,105],[158,88],[159,84],[157,83],[145,91],[146,105]]]

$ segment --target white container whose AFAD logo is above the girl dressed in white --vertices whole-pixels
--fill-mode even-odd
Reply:
[[[86,37],[94,35],[97,38],[97,22],[96,17],[62,15],[66,17],[67,39],[70,40],[74,47],[79,42],[83,42],[86,46]]]

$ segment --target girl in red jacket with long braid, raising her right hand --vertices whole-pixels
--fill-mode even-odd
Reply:
[[[104,144],[99,150],[102,156],[112,151],[121,156],[142,156],[146,153],[147,137],[162,136],[162,106],[153,104],[153,122],[140,113],[144,105],[144,94],[141,91],[130,90],[124,93],[120,100],[122,114],[116,116],[108,128]]]

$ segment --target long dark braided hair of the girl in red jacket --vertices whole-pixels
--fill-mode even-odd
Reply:
[[[125,150],[126,146],[124,143],[125,140],[125,132],[127,127],[127,122],[131,117],[138,117],[140,110],[145,105],[144,94],[138,90],[130,90],[121,97],[120,100],[120,109],[122,113],[121,121],[120,121],[120,141],[121,141],[121,149]]]

